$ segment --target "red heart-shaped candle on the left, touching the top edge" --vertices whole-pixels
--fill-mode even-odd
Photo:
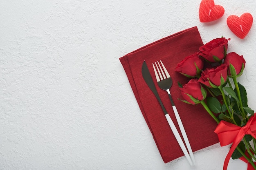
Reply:
[[[220,5],[215,5],[213,0],[202,0],[199,7],[200,22],[211,22],[218,20],[224,15],[224,8]]]

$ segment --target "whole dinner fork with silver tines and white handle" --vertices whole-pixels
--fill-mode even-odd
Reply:
[[[156,79],[157,79],[157,84],[158,84],[158,86],[159,86],[162,90],[165,90],[165,91],[167,91],[167,93],[168,93],[168,96],[169,96],[169,98],[170,98],[170,100],[171,100],[171,104],[172,104],[172,107],[173,107],[173,111],[174,111],[175,117],[176,117],[177,122],[178,122],[178,125],[179,125],[179,127],[180,127],[180,131],[181,131],[181,133],[182,133],[182,136],[183,136],[183,139],[184,139],[184,141],[185,141],[186,147],[187,147],[187,149],[189,150],[189,154],[190,154],[190,156],[191,156],[191,158],[192,158],[192,161],[193,161],[193,163],[194,163],[194,165],[195,165],[195,157],[194,157],[194,155],[193,155],[193,151],[192,151],[191,146],[190,146],[190,144],[189,144],[189,139],[188,139],[188,137],[187,137],[187,135],[186,135],[184,126],[183,126],[182,121],[181,121],[181,119],[180,119],[180,115],[179,115],[179,113],[178,113],[178,111],[177,111],[177,108],[176,108],[176,106],[175,106],[175,104],[174,104],[174,102],[173,102],[173,99],[172,99],[172,97],[171,97],[170,88],[171,88],[171,86],[172,86],[172,84],[173,84],[173,80],[171,79],[171,76],[169,75],[168,71],[166,70],[166,68],[165,68],[165,66],[164,66],[164,64],[162,63],[161,60],[160,60],[160,63],[161,63],[162,66],[159,64],[158,61],[155,62],[155,64],[154,64],[154,63],[152,64],[152,65],[153,65],[153,68],[154,68],[154,71],[155,71],[155,77],[156,77]],[[176,138],[176,139],[177,139],[177,138]],[[182,142],[182,143],[183,143],[183,142]],[[185,148],[185,149],[186,149],[186,148]],[[184,155],[186,156],[187,150],[184,150],[184,149],[183,149],[182,151],[184,152]],[[185,154],[185,152],[186,152],[186,154]],[[187,155],[188,155],[188,154],[187,154]],[[191,161],[190,157],[186,156],[186,158],[187,158],[189,161]]]

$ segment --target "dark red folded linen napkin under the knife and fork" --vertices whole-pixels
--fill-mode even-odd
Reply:
[[[157,92],[180,132],[168,94],[158,87],[155,79],[152,63],[162,60],[173,79],[171,95],[180,114],[191,148],[193,152],[200,150],[219,142],[216,133],[214,133],[217,123],[207,111],[204,110],[202,105],[195,106],[185,104],[178,100],[178,98],[182,99],[182,96],[177,82],[185,84],[189,79],[175,72],[174,69],[177,63],[184,59],[184,57],[198,51],[199,47],[202,45],[203,43],[197,27],[192,27],[153,42],[152,44],[148,44],[119,58],[129,79],[139,108],[141,109],[165,163],[181,157],[184,154],[168,125],[161,106],[142,77],[141,67],[145,60],[157,88]]]

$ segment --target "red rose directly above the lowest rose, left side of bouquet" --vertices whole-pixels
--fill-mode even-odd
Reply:
[[[199,52],[185,57],[184,60],[177,64],[175,71],[189,78],[194,78],[197,75],[200,75],[200,70],[204,67],[204,62],[198,54]]]

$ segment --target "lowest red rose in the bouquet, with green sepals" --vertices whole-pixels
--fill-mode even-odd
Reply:
[[[207,95],[206,90],[198,82],[198,79],[191,79],[188,84],[184,84],[183,88],[180,88],[180,91],[185,99],[182,101],[189,104],[199,104]]]

